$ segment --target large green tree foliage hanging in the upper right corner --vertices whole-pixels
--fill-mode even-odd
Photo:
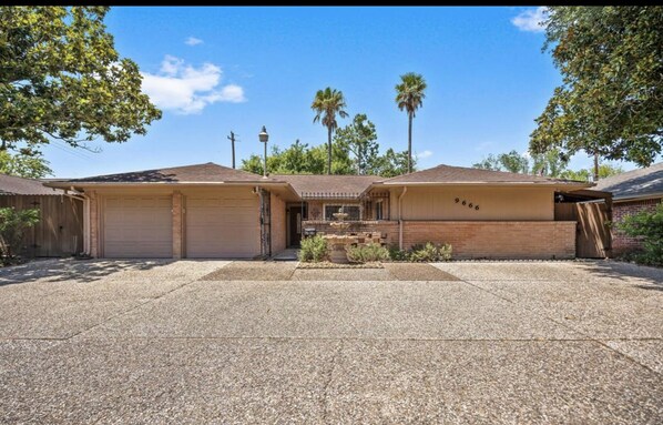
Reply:
[[[663,7],[551,7],[547,42],[562,85],[554,90],[532,152],[584,150],[651,165],[662,151]]]

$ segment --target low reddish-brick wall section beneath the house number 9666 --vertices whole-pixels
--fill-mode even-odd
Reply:
[[[402,239],[450,243],[455,259],[575,257],[573,221],[406,221]]]

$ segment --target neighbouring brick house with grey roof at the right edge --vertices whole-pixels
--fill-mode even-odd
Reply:
[[[612,220],[615,224],[629,214],[653,211],[663,200],[663,162],[600,180],[594,189],[612,192]],[[640,247],[636,237],[629,237],[613,226],[613,255]]]

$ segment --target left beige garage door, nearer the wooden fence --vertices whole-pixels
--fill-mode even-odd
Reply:
[[[104,256],[173,256],[171,196],[105,196]]]

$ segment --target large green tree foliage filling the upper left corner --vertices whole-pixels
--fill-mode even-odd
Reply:
[[[105,7],[0,7],[0,150],[145,134],[161,112],[115,51]]]

